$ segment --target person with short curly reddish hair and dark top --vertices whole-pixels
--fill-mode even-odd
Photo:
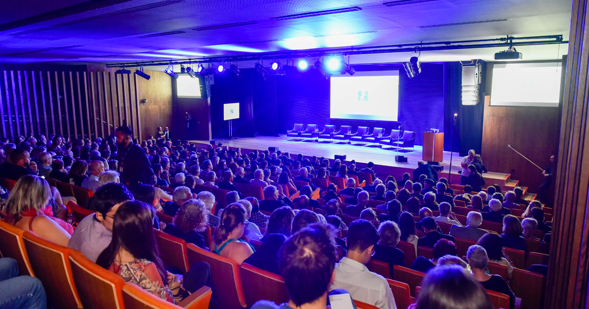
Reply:
[[[209,212],[201,200],[188,200],[182,204],[172,223],[166,225],[164,232],[191,242],[200,248],[206,249],[204,232],[209,225]]]

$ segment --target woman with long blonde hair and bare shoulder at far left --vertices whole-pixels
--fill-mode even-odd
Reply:
[[[6,222],[67,247],[70,233],[42,211],[49,200],[51,189],[46,180],[35,175],[21,177],[6,200]]]

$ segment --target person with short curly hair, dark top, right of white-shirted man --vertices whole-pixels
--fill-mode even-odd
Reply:
[[[380,239],[376,244],[375,254],[372,258],[388,263],[391,268],[391,278],[393,278],[394,265],[405,267],[405,253],[396,248],[401,240],[401,230],[395,222],[385,221],[378,227],[378,235]]]

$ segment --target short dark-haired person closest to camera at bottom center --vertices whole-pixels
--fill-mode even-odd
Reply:
[[[278,267],[290,300],[280,305],[261,300],[252,309],[327,308],[337,261],[333,234],[329,225],[313,224],[286,240],[280,247]]]

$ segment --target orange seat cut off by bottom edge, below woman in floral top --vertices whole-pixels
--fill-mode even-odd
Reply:
[[[169,303],[134,284],[123,287],[125,309],[207,309],[213,295],[210,287],[201,287],[178,305]]]

